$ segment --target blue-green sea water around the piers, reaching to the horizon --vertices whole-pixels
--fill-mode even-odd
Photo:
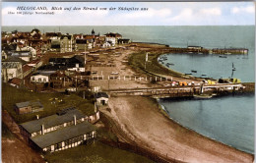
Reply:
[[[31,31],[34,27],[2,27],[2,31]],[[173,47],[248,48],[248,55],[165,54],[166,63],[175,71],[209,78],[238,78],[255,81],[254,26],[213,27],[36,27],[41,32],[99,34],[119,32],[138,42],[154,42]],[[232,75],[232,65],[236,71]],[[207,100],[160,99],[169,117],[197,133],[254,153],[254,95],[216,97]],[[200,143],[200,142],[199,142]]]

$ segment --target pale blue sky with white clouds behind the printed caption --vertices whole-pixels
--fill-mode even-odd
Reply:
[[[2,26],[242,26],[255,25],[254,2],[2,2]],[[17,10],[18,6],[47,11]],[[52,11],[52,7],[62,10]],[[67,11],[74,7],[81,10]],[[83,10],[84,7],[96,11]],[[110,8],[116,10],[109,10]],[[118,10],[119,7],[138,11]],[[99,8],[107,8],[102,11]],[[148,8],[142,11],[141,8]],[[8,14],[13,12],[15,14]],[[32,12],[18,15],[17,12]],[[54,12],[36,15],[35,12]]]

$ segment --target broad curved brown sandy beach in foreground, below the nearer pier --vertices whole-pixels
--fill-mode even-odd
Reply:
[[[111,97],[109,116],[137,144],[184,162],[253,162],[253,156],[187,130],[147,97]]]

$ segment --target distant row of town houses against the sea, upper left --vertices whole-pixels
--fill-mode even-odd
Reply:
[[[93,29],[91,34],[62,34],[61,32],[41,33],[34,28],[31,32],[13,31],[12,33],[2,32],[2,44],[15,44],[15,50],[32,48],[33,56],[41,55],[46,51],[58,51],[61,53],[78,50],[88,50],[95,47],[110,47],[116,44],[130,43],[130,39],[123,39],[119,33],[107,32],[104,35],[96,34]],[[2,48],[3,49],[3,48]]]

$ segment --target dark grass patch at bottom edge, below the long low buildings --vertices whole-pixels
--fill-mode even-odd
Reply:
[[[48,153],[45,159],[49,163],[151,163],[146,157],[96,141],[88,145]]]

